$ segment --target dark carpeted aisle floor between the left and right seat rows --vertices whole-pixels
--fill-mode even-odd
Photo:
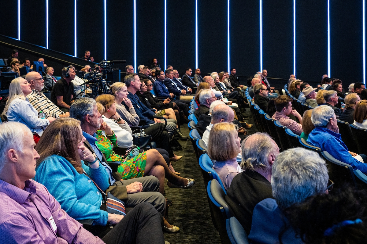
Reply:
[[[244,118],[247,123],[254,123],[249,108],[246,108],[243,115],[248,116]],[[181,126],[181,132],[183,135],[189,136],[187,125]],[[247,135],[255,132],[257,132],[255,126],[247,129]],[[169,188],[166,184],[166,198],[173,201],[172,206],[168,209],[168,222],[171,225],[177,225],[180,231],[175,234],[164,233],[164,238],[171,244],[219,244],[221,239],[211,220],[203,176],[191,141],[189,139],[179,142],[182,145],[182,150],[175,151],[175,153],[182,155],[183,158],[178,162],[173,162],[172,165],[177,172],[181,173],[182,177],[195,179],[195,185],[190,189],[181,189]]]

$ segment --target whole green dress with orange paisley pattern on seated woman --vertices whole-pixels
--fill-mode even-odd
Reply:
[[[115,133],[113,135],[102,134],[101,130],[97,131],[97,146],[99,150],[102,151],[103,155],[105,155],[107,161],[119,161],[121,164],[117,169],[122,176],[123,180],[143,177],[146,165],[146,153],[139,153],[134,158],[124,161],[124,158],[120,155],[116,154],[112,149],[113,147],[117,147],[117,137]]]

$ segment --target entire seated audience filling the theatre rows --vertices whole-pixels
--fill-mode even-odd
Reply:
[[[343,119],[367,129],[363,83],[356,82],[345,93],[341,80],[323,77],[313,88],[291,75],[289,93],[312,107],[301,116],[292,108],[290,96],[270,86],[266,70],[258,72],[249,87],[241,85],[234,68],[204,77],[200,69],[192,76],[187,68],[179,78],[177,70],[161,70],[153,59],[150,67],[140,65],[138,71],[127,65],[124,82],[113,83],[110,94],[95,99],[75,96],[73,66],[63,68],[59,80],[54,79],[53,68],[48,69],[51,99],[43,94],[46,81],[38,72],[12,80],[1,114],[7,121],[0,124],[0,213],[5,216],[0,220],[0,239],[164,243],[163,231],[180,229],[167,221],[170,200],[164,198],[164,180],[170,188],[195,184],[172,166],[182,158],[173,152],[172,140],[188,139],[181,126],[187,122],[190,100],[198,104],[196,129],[215,161],[225,200],[250,243],[316,243],[325,236],[327,242],[322,243],[331,243],[350,225],[358,230],[356,239],[366,238],[366,202],[361,202],[360,193],[337,191],[328,196],[334,183],[317,153],[299,147],[280,153],[268,134],[247,135],[252,124],[244,122],[241,112],[248,90],[274,120],[367,174],[367,156],[348,150],[337,125],[337,119]],[[136,127],[152,137],[156,149],[134,145]],[[112,169],[114,164],[117,170]],[[362,213],[343,210],[345,201]],[[328,210],[323,225],[308,217],[323,212],[326,203],[343,215],[330,217],[333,213]],[[87,219],[92,224],[80,224]],[[312,232],[306,222],[323,231]]]

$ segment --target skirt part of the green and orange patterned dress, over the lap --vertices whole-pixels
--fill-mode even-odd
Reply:
[[[134,158],[124,161],[117,168],[117,172],[122,175],[123,180],[143,177],[146,165],[146,153],[139,153]]]

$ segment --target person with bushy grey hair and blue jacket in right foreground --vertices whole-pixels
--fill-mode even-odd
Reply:
[[[280,240],[284,244],[303,243],[295,237],[283,210],[304,202],[309,196],[327,192],[328,179],[326,163],[317,153],[301,147],[280,153],[271,177],[275,199],[264,199],[255,206],[248,235],[250,243],[280,243]]]

